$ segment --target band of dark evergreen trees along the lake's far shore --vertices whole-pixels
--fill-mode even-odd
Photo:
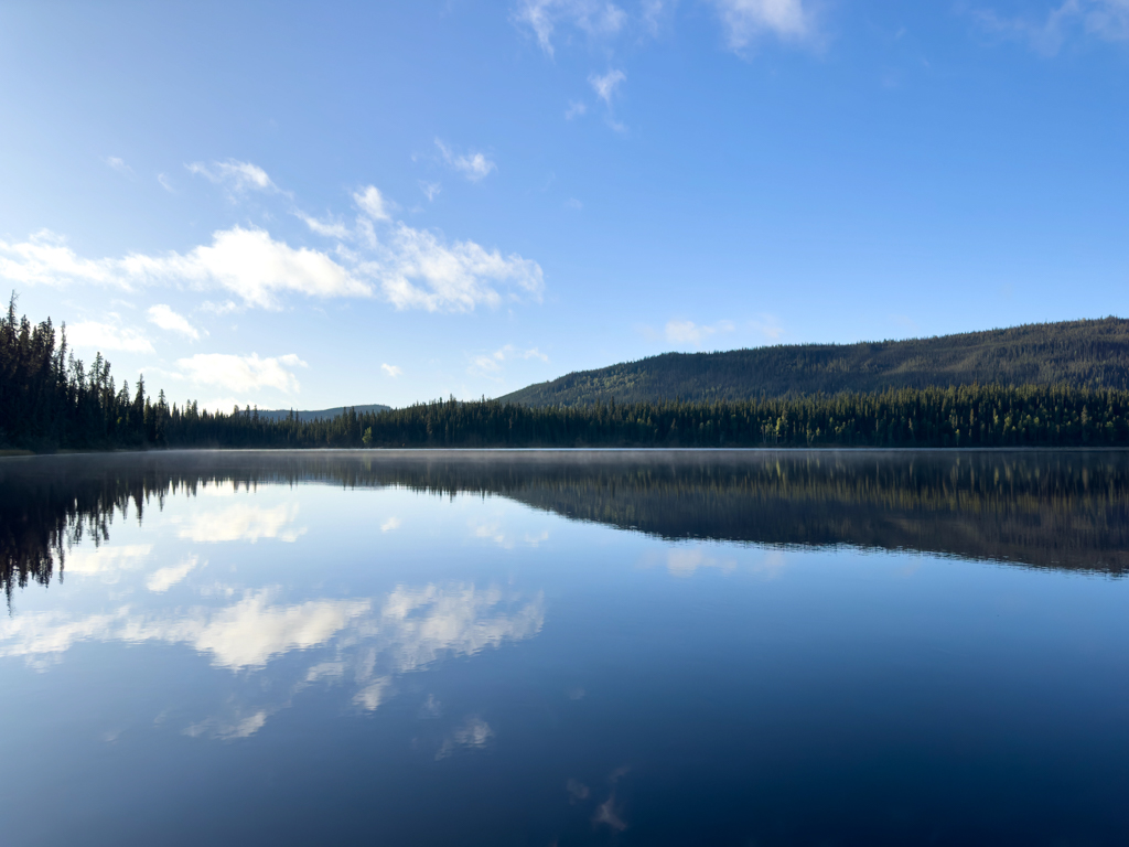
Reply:
[[[1105,324],[1105,322],[1096,322]],[[1129,390],[1000,383],[885,387],[745,400],[501,400],[348,409],[329,419],[202,410],[116,385],[51,321],[0,318],[0,446],[138,447],[1015,447],[1129,446]]]

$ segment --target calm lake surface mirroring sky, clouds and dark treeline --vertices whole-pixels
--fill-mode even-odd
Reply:
[[[0,844],[1129,844],[1129,454],[0,460]]]

